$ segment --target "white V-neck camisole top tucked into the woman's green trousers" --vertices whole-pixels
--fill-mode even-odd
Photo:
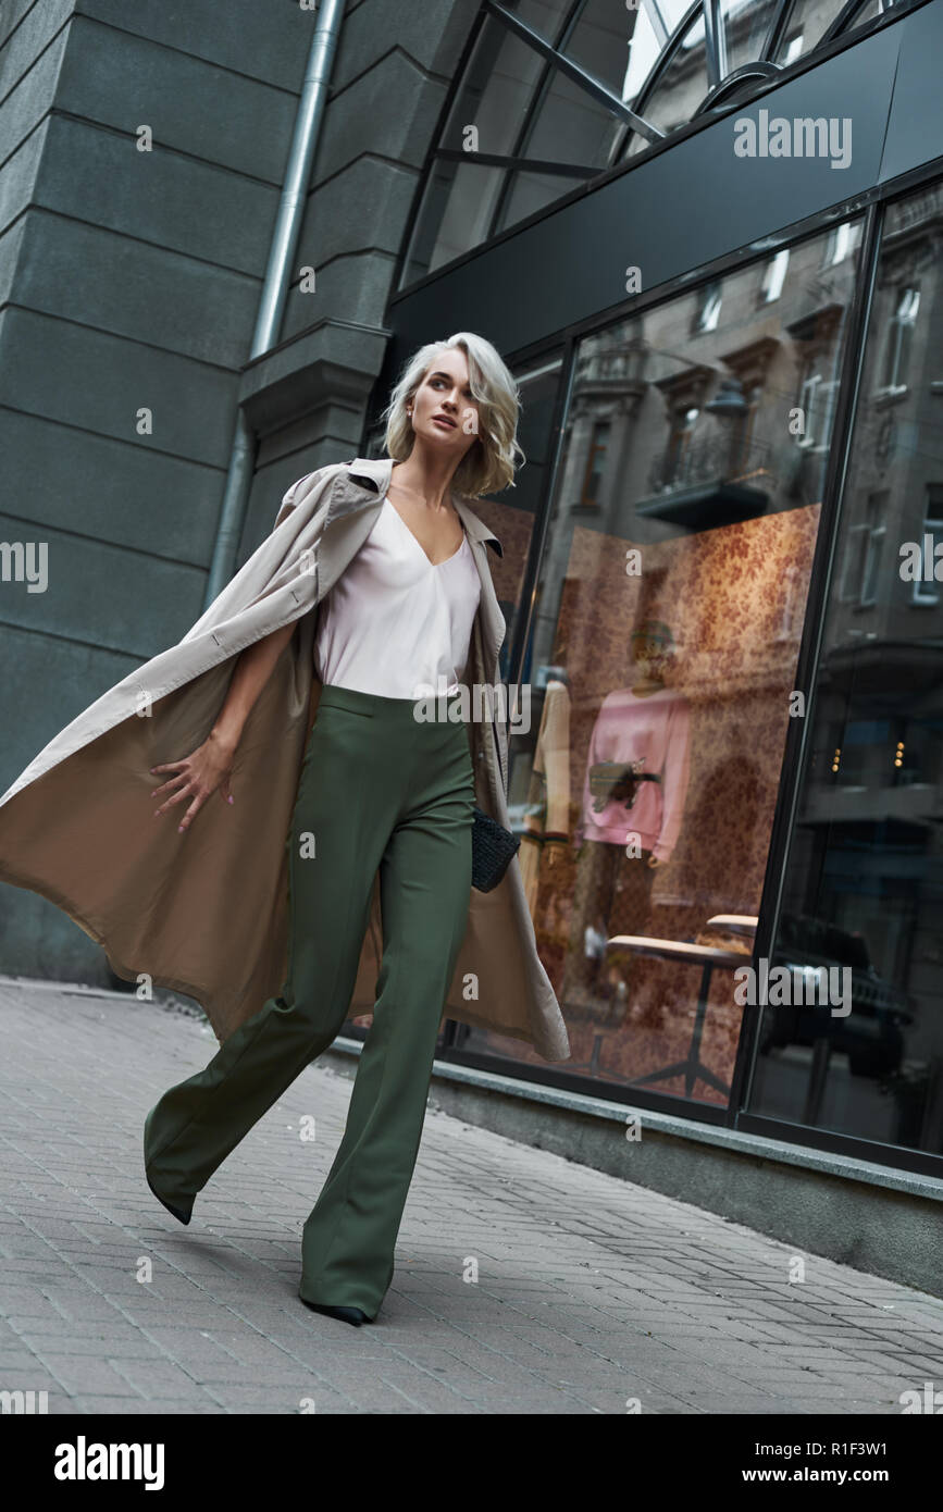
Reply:
[[[322,683],[385,699],[422,697],[423,685],[450,692],[468,661],[479,597],[468,537],[432,564],[385,497],[373,529],[320,602],[314,671]]]

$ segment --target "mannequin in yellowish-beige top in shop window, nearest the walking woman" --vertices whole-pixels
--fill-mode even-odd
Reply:
[[[530,764],[520,868],[533,924],[541,877],[570,844],[570,688],[567,668],[541,667],[544,708]]]

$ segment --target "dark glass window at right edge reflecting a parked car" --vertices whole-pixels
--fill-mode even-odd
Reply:
[[[943,184],[889,207],[748,1108],[943,1152]],[[825,975],[828,974],[828,992]]]

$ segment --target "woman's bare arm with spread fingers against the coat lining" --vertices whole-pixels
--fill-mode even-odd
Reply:
[[[154,810],[154,818],[166,813],[172,804],[189,798],[190,806],[178,826],[180,830],[187,830],[207,798],[216,792],[216,788],[221,789],[227,803],[233,801],[230,774],[245,723],[258,694],[272,676],[272,668],[283,647],[290,641],[293,631],[295,621],[292,620],[290,624],[283,624],[281,629],[272,631],[271,635],[263,635],[252,646],[246,646],[236,662],[222,709],[203,745],[198,745],[183,761],[169,761],[160,767],[151,767],[153,773],[172,773],[163,786],[156,788],[151,794],[153,798],[169,794],[160,807]]]

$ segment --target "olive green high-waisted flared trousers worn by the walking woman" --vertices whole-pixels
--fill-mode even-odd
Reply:
[[[438,699],[437,711],[447,714],[449,705]],[[379,871],[373,1024],[340,1148],[302,1231],[305,1302],[357,1306],[373,1318],[393,1279],[438,1025],[467,925],[473,809],[462,723],[423,723],[411,699],[325,685],[286,842],[290,940],[281,993],[147,1116],[147,1173],[162,1198],[189,1213],[221,1161],[345,1024]]]

